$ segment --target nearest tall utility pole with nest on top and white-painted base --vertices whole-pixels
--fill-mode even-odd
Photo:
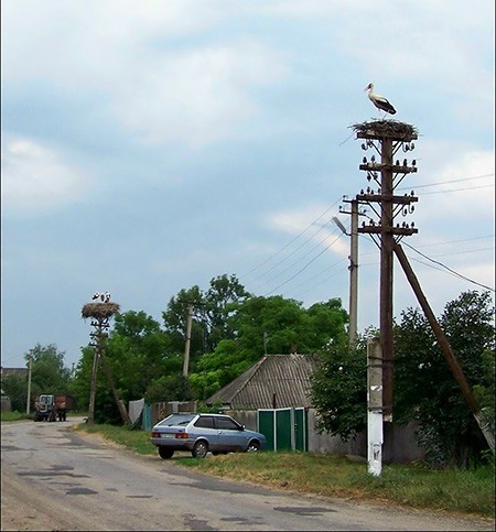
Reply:
[[[374,349],[374,363],[369,358],[368,377],[369,386],[374,386],[375,400],[370,402],[371,389],[367,390],[369,397],[369,423],[380,423],[392,421],[392,363],[393,363],[393,338],[392,338],[392,264],[393,264],[393,247],[405,236],[411,236],[418,232],[413,228],[413,224],[408,225],[403,221],[400,226],[395,226],[395,217],[401,213],[403,216],[413,211],[413,203],[418,200],[410,195],[396,196],[395,188],[409,173],[417,172],[416,161],[409,165],[407,159],[400,163],[399,160],[393,161],[395,155],[401,149],[408,152],[414,149],[413,140],[417,139],[417,131],[412,126],[407,123],[376,120],[355,124],[358,139],[364,139],[362,144],[364,151],[373,150],[375,153],[370,160],[364,156],[363,164],[359,169],[367,172],[368,182],[378,185],[377,191],[370,186],[366,191],[362,189],[355,200],[358,204],[367,204],[377,215],[378,221],[370,220],[369,225],[365,222],[357,229],[359,234],[368,234],[380,249],[380,281],[379,281],[379,346]],[[380,162],[376,162],[376,154],[380,156]],[[380,176],[379,176],[380,174]],[[377,354],[380,352],[378,356]],[[377,403],[377,372],[381,372],[380,401]],[[371,373],[374,377],[371,377]],[[374,381],[374,384],[370,382]],[[376,415],[380,412],[380,415]],[[382,445],[382,433],[375,427],[369,431],[370,434],[378,435],[376,442],[368,442],[369,445],[369,471],[377,474],[377,465],[370,457],[379,456],[377,445]],[[381,456],[381,453],[380,453]],[[376,460],[377,462],[377,460]]]

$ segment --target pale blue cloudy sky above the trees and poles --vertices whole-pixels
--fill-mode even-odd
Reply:
[[[348,310],[346,200],[369,183],[353,124],[418,132],[419,232],[401,243],[440,316],[495,286],[494,2],[3,0],[1,363],[77,365],[108,291],[159,323],[236,275]],[[391,117],[389,117],[391,118]],[[401,153],[402,155],[402,153]],[[345,199],[345,200],[344,200]],[[366,216],[375,217],[367,208]],[[419,307],[398,262],[393,315]],[[379,322],[379,250],[358,239],[358,332]],[[261,354],[262,355],[262,354]]]

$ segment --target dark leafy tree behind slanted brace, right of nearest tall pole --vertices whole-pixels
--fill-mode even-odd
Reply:
[[[488,358],[487,351],[494,354],[493,319],[487,292],[462,293],[445,306],[439,319],[474,390],[490,389],[484,357]],[[402,313],[395,339],[395,417],[400,422],[420,422],[419,441],[433,464],[466,466],[477,462],[485,441],[419,310]]]

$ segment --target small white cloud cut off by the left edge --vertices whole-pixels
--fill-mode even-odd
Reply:
[[[87,177],[60,153],[26,138],[2,145],[2,207],[7,213],[41,213],[73,203],[85,193]]]

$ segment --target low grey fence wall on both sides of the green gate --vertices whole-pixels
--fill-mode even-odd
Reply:
[[[234,417],[247,428],[258,431],[257,410],[227,410],[227,415]],[[359,433],[356,438],[342,442],[338,436],[319,434],[316,428],[316,411],[309,410],[309,452],[328,453],[338,456],[352,455],[367,459],[367,431]],[[385,424],[385,445],[382,449],[382,462],[395,464],[407,464],[421,460],[424,452],[416,442],[414,431],[418,425]]]

